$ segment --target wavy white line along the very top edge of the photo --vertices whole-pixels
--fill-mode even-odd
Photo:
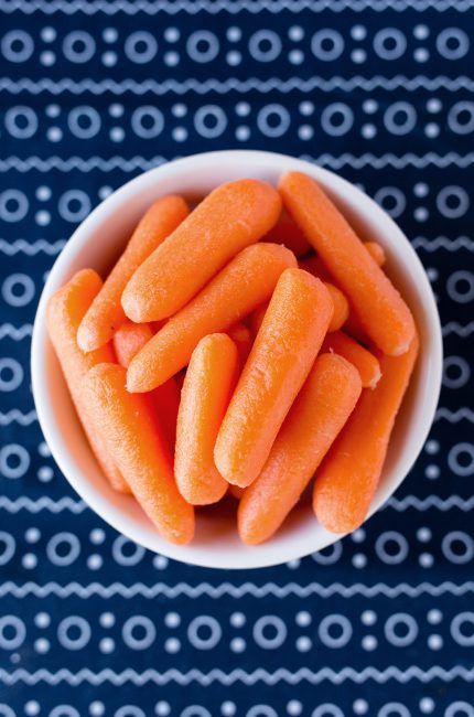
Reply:
[[[1,0],[0,10],[6,13],[21,11],[25,14],[40,11],[45,14],[54,14],[63,12],[64,14],[72,15],[77,12],[93,15],[103,12],[106,15],[115,15],[123,12],[128,15],[134,15],[139,12],[144,12],[149,15],[154,15],[159,12],[164,12],[174,15],[177,12],[187,12],[188,14],[197,14],[198,12],[207,12],[209,14],[217,14],[219,12],[228,12],[229,14],[238,14],[243,11],[258,14],[266,10],[271,13],[288,10],[293,13],[300,13],[303,10],[319,13],[324,10],[340,13],[346,9],[354,12],[362,12],[364,10],[373,10],[375,12],[383,12],[384,10],[392,10],[395,12],[403,12],[405,10],[414,10],[417,12],[424,12],[425,10],[435,10],[437,12],[445,12],[446,10],[456,10],[457,12],[466,12],[473,7],[472,0],[116,0],[108,2],[107,0],[55,0],[55,2],[46,2],[45,0]]]

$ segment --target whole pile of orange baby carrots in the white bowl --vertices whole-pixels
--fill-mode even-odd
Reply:
[[[269,538],[314,478],[334,533],[365,520],[418,353],[412,314],[321,186],[223,184],[163,196],[103,282],[78,271],[47,328],[90,447],[166,539],[238,499]]]

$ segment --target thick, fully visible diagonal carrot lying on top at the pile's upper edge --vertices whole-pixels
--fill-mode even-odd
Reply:
[[[122,306],[132,321],[175,313],[238,252],[262,237],[281,210],[278,192],[259,180],[222,184],[142,264]]]

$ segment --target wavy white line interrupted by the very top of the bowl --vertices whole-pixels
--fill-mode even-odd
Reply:
[[[332,169],[342,169],[343,167],[352,167],[353,169],[364,169],[366,167],[371,167],[374,169],[384,169],[386,167],[406,169],[407,167],[416,167],[417,169],[424,169],[431,165],[440,169],[445,169],[451,165],[465,169],[474,163],[474,152],[468,152],[467,154],[459,154],[457,152],[448,152],[446,154],[437,154],[435,152],[413,154],[412,152],[408,152],[401,156],[388,152],[380,157],[376,157],[371,152],[365,152],[358,157],[351,154],[349,152],[344,152],[337,157],[328,153],[320,154],[319,157],[304,153],[300,157],[301,159],[316,162],[324,167],[331,167]],[[137,156],[131,157],[130,159],[123,159],[121,157],[110,157],[109,159],[103,157],[89,157],[87,159],[80,157],[69,157],[67,159],[62,157],[49,157],[47,159],[41,157],[8,157],[3,160],[0,159],[0,171],[14,170],[23,173],[32,170],[39,172],[50,172],[51,170],[58,170],[61,172],[69,172],[71,170],[91,172],[93,170],[99,170],[103,172],[110,172],[118,169],[123,172],[131,172],[134,170],[146,171],[171,161],[172,159],[172,157],[165,158],[162,156],[152,158]],[[468,239],[465,239],[464,237],[460,237],[460,239],[462,239],[462,242],[468,242]],[[419,240],[422,246],[424,246],[424,243],[430,242],[423,237],[418,237],[416,240]],[[450,239],[445,239],[445,242],[449,243]],[[454,242],[456,240],[454,239]],[[455,249],[453,248],[452,250]]]

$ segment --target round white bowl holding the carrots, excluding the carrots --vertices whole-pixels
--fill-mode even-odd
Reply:
[[[441,330],[430,282],[408,239],[375,202],[336,174],[284,154],[238,150],[197,154],[150,170],[108,196],[80,224],[54,264],[37,308],[31,357],[33,395],[45,439],[62,472],[80,497],[117,531],[150,550],[194,565],[276,565],[320,550],[341,536],[321,527],[311,505],[303,503],[273,538],[247,547],[238,538],[236,521],[229,520],[236,505],[229,500],[224,507],[198,512],[196,536],[191,545],[176,546],[163,541],[133,499],[111,490],[93,458],[47,340],[46,302],[77,270],[93,267],[106,271],[141,214],[157,197],[169,193],[198,196],[222,182],[245,176],[276,184],[288,170],[306,172],[321,182],[359,235],[384,246],[388,257],[386,269],[411,307],[420,332],[420,357],[370,506],[370,514],[375,513],[407,477],[432,424],[441,385]]]

